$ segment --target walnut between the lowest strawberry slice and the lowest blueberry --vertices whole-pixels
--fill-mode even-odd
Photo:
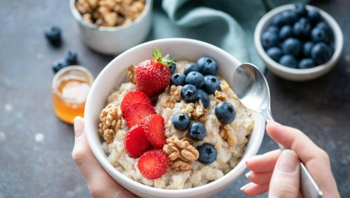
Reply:
[[[175,170],[190,170],[192,166],[188,162],[193,162],[199,157],[199,152],[188,141],[171,137],[163,146],[163,151],[168,154]],[[181,162],[180,162],[181,161]]]

